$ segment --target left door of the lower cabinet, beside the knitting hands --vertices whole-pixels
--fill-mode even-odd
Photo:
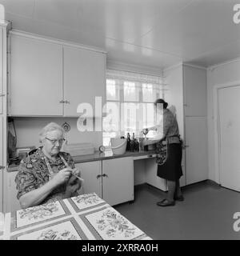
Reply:
[[[80,192],[82,194],[96,193],[102,198],[102,162],[82,162],[75,164],[81,170],[84,182]]]

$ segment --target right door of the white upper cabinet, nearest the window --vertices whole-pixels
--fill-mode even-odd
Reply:
[[[104,104],[105,72],[106,54],[64,47],[64,99],[67,102],[64,104],[65,116],[81,115],[77,113],[77,108],[83,102],[89,103],[94,111],[96,96],[101,96]]]

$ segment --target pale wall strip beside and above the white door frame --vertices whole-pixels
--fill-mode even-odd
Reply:
[[[207,70],[207,123],[208,123],[208,152],[209,178],[220,183],[216,165],[216,150],[214,136],[217,133],[214,116],[214,86],[240,81],[240,59],[212,66]]]

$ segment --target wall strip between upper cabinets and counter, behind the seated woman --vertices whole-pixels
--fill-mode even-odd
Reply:
[[[14,118],[17,133],[17,146],[40,146],[38,134],[42,127],[49,122],[57,122],[60,126],[64,122],[70,124],[70,132],[67,134],[68,143],[90,142],[96,150],[102,145],[102,132],[80,132],[77,129],[78,118]]]

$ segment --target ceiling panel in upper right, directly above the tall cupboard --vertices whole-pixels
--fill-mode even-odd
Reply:
[[[234,42],[240,39],[240,26],[232,22],[231,7],[221,0],[195,1],[142,37],[140,45],[193,58]]]

